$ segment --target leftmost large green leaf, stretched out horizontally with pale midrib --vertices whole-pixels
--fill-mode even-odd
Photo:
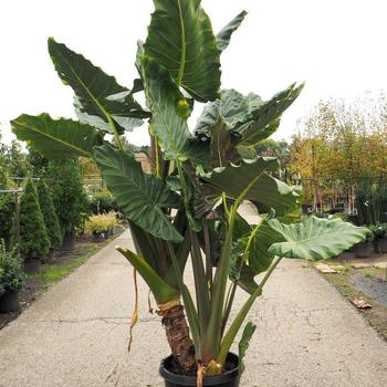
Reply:
[[[92,126],[72,119],[53,119],[49,114],[23,114],[11,121],[12,132],[46,158],[92,157],[102,135]]]

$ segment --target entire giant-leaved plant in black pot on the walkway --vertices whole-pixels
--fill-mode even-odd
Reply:
[[[245,12],[215,35],[198,0],[157,0],[148,36],[138,44],[139,77],[132,90],[49,39],[57,74],[75,93],[80,121],[21,115],[12,129],[45,157],[96,161],[136,247],[118,251],[157,302],[171,352],[160,367],[166,386],[238,386],[253,323],[243,330],[239,356],[230,347],[280,260],[336,255],[364,240],[367,230],[339,219],[297,222],[301,189],[273,177],[278,160],[242,159],[248,147],[275,132],[302,90],[292,84],[269,101],[220,90],[220,55]],[[147,108],[135,101],[138,92],[145,93]],[[187,119],[196,102],[207,105],[191,132]],[[151,174],[143,171],[122,138],[144,119]],[[238,213],[245,200],[260,216],[255,226]],[[184,282],[188,259],[196,296]],[[229,321],[238,289],[249,299]],[[136,321],[135,310],[129,346]]]

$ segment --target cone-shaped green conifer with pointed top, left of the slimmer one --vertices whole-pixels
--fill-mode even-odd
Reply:
[[[44,260],[50,252],[50,247],[35,187],[32,180],[28,180],[20,199],[20,252],[25,259]]]

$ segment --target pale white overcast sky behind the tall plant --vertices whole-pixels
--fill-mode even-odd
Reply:
[[[249,12],[221,56],[223,88],[269,98],[305,82],[276,139],[295,134],[320,100],[352,101],[387,90],[385,0],[202,0],[202,7],[215,32],[241,10]],[[13,138],[9,122],[22,113],[75,117],[72,90],[61,83],[48,55],[49,36],[130,87],[137,76],[136,41],[145,40],[153,8],[151,0],[0,1],[3,139]],[[135,129],[128,139],[146,144],[146,129]]]

